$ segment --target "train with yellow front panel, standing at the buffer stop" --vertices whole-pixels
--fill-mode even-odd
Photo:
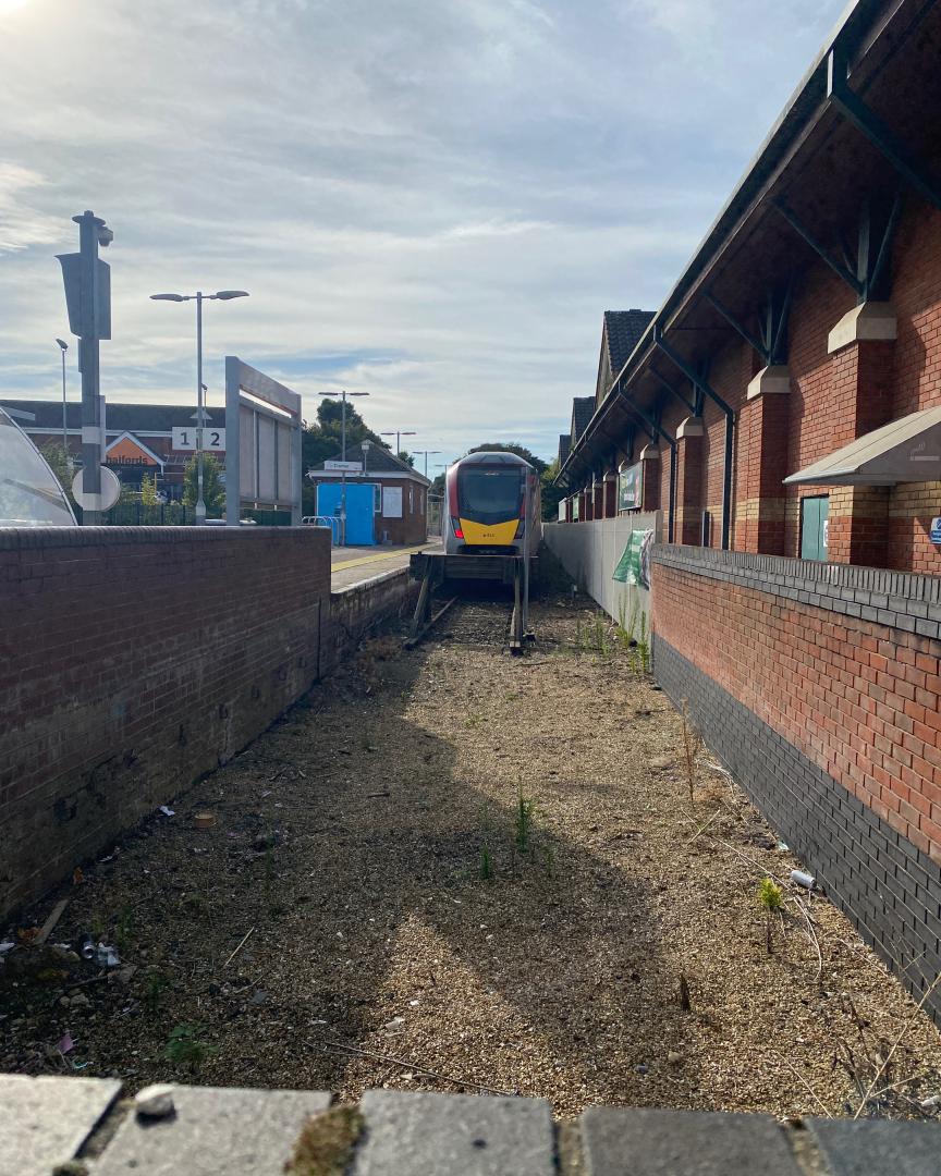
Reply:
[[[515,453],[470,453],[445,477],[446,555],[529,555],[542,541],[539,474]]]

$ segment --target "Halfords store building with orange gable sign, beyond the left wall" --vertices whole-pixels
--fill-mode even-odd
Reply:
[[[29,413],[35,420],[16,417],[16,423],[34,445],[62,443],[62,403],[55,400],[0,400],[4,408]],[[222,430],[226,426],[225,408],[207,408],[206,429]],[[121,482],[139,488],[141,479],[156,475],[158,489],[169,501],[182,496],[183,470],[192,452],[173,448],[173,429],[195,427],[196,409],[192,405],[121,405],[108,401],[106,408],[105,465],[113,469]],[[203,434],[206,436],[206,434]],[[66,436],[69,452],[81,456],[81,405],[66,406]],[[225,436],[225,433],[222,434]],[[225,465],[225,447],[207,448]]]

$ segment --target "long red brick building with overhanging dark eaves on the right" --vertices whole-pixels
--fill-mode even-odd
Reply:
[[[941,569],[934,417],[888,473],[839,460],[941,405],[941,18],[885,7],[850,12],[623,362],[605,316],[561,472],[580,519],[613,514],[605,481],[642,462],[639,506],[678,542]]]

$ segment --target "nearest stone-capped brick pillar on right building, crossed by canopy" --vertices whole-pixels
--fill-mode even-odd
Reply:
[[[865,302],[843,315],[827,340],[834,403],[848,414],[854,437],[890,420],[895,332],[889,303]],[[830,490],[827,557],[832,563],[886,566],[888,500],[882,486]]]

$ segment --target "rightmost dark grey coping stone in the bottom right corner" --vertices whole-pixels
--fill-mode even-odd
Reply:
[[[941,1127],[870,1118],[805,1121],[833,1176],[939,1176]]]

